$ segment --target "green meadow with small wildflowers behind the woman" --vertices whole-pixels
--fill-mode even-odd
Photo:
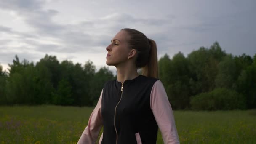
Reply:
[[[76,144],[93,108],[0,107],[0,144]],[[175,111],[181,144],[256,144],[256,110]],[[157,144],[163,144],[158,133]]]

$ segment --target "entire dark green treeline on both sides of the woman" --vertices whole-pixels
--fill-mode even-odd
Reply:
[[[159,59],[159,77],[173,109],[230,110],[256,108],[256,54],[232,56],[215,42],[187,57],[179,52]],[[0,67],[0,104],[93,106],[107,80],[107,67],[97,72],[84,65],[59,62],[45,55],[34,64],[15,56],[9,73]]]

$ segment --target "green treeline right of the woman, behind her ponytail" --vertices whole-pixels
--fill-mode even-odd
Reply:
[[[232,56],[215,42],[187,57],[165,54],[158,63],[173,109],[256,108],[256,54]]]

